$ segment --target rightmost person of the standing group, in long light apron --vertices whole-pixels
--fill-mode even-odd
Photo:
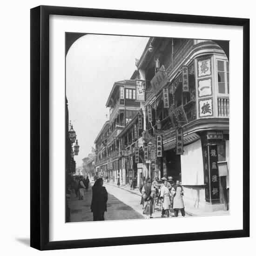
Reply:
[[[173,209],[174,216],[178,217],[179,210],[181,210],[182,216],[185,216],[185,207],[183,202],[184,190],[180,181],[176,181],[176,185],[174,185],[171,189],[171,194],[173,195]]]

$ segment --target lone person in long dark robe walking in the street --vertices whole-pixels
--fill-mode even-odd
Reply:
[[[94,221],[104,221],[104,213],[107,211],[108,192],[103,187],[103,179],[99,178],[94,183],[91,211]]]

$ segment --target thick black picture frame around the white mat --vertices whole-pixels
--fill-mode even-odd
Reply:
[[[49,15],[243,27],[243,229],[49,242]],[[31,247],[40,250],[249,236],[249,19],[39,6],[31,9]],[[242,180],[242,177],[241,177]]]

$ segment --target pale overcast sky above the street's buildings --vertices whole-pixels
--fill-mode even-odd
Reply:
[[[77,135],[79,155],[91,153],[94,140],[109,118],[108,95],[115,81],[130,79],[135,58],[140,59],[148,42],[146,37],[84,35],[67,53],[66,94],[69,120]]]

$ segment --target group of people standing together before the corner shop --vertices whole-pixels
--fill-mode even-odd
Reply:
[[[180,182],[177,180],[176,184],[174,184],[172,177],[168,177],[168,180],[163,177],[161,181],[162,184],[159,185],[158,178],[155,177],[153,182],[150,178],[142,182],[140,191],[143,214],[146,215],[146,218],[152,218],[152,214],[155,212],[155,204],[161,201],[161,217],[170,217],[172,210],[174,211],[175,217],[178,216],[179,210],[181,210],[182,216],[185,216],[184,202],[182,199],[184,190]]]

